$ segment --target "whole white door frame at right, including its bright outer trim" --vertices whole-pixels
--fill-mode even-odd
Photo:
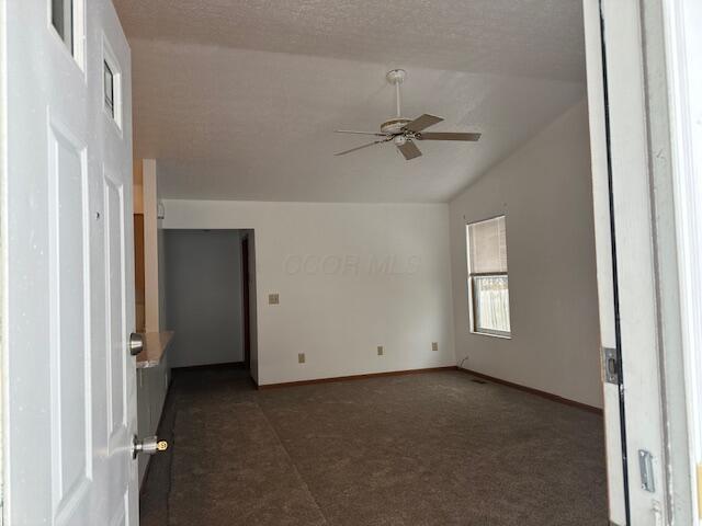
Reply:
[[[611,521],[618,525],[700,524],[692,481],[702,453],[702,369],[693,352],[702,343],[702,187],[694,178],[700,160],[692,157],[690,85],[682,85],[690,45],[683,31],[689,19],[682,14],[686,9],[690,14],[691,4],[584,0],[596,221],[596,183],[607,144],[618,241],[613,263],[621,277],[620,311],[612,321],[621,325],[629,484],[623,493],[610,488]],[[593,67],[591,43],[600,32],[601,62]],[[697,82],[699,98],[699,76]],[[610,129],[598,121],[599,112]],[[699,129],[695,137],[700,144]],[[653,492],[642,488],[641,450],[653,454]],[[608,447],[610,483],[621,457]]]

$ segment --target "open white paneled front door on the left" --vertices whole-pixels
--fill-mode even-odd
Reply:
[[[4,518],[136,525],[129,49],[110,0],[2,3]]]

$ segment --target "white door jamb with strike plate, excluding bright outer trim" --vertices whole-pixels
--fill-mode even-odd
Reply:
[[[611,220],[616,239],[624,473],[618,472],[621,455],[609,436],[615,434],[610,430],[620,416],[615,395],[608,396],[611,388],[604,387],[610,518],[616,525],[627,524],[627,513],[632,525],[693,521],[664,4],[661,0],[584,0],[605,346],[614,335],[615,316],[602,306],[610,302],[612,291],[603,287],[607,276],[600,275],[609,264],[603,255],[608,242],[602,228],[607,220],[601,190],[608,170],[605,155],[611,161]],[[603,53],[598,57],[593,43],[600,31]],[[605,145],[608,151],[603,150]],[[653,455],[653,492],[642,488],[641,451]],[[629,484],[623,488],[624,479]]]

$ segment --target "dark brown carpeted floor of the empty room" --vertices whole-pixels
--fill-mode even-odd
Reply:
[[[602,526],[602,433],[460,371],[257,391],[176,370],[141,526]]]

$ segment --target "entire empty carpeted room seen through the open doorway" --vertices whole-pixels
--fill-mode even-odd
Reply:
[[[172,332],[143,523],[605,522],[579,3],[116,7]]]

